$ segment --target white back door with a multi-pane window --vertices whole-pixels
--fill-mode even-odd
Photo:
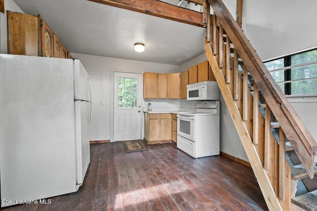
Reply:
[[[141,139],[141,79],[141,74],[114,72],[114,141]]]

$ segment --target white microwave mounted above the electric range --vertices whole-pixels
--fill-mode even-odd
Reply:
[[[219,101],[220,90],[216,81],[203,81],[187,85],[188,101]]]

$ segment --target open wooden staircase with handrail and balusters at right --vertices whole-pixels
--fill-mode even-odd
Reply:
[[[269,210],[317,211],[316,141],[222,1],[210,5],[205,53]]]

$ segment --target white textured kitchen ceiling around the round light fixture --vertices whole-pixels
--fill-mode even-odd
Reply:
[[[88,0],[13,1],[25,13],[40,14],[71,53],[174,65],[204,53],[205,28]],[[139,42],[143,53],[134,51]]]

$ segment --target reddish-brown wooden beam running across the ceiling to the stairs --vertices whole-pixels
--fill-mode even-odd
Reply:
[[[206,27],[203,13],[174,6],[158,0],[89,0],[122,9],[141,12],[168,20]]]

